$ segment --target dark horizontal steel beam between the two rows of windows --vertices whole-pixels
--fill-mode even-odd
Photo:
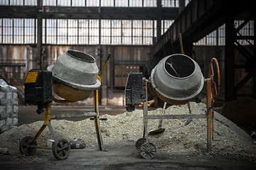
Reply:
[[[36,18],[40,13],[43,18],[157,20],[159,12],[162,20],[178,16],[176,7],[0,6],[0,18]]]

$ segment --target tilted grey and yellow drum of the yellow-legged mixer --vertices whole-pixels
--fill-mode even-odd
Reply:
[[[82,101],[101,85],[95,58],[78,50],[60,55],[47,70],[53,72],[55,94],[68,101]]]

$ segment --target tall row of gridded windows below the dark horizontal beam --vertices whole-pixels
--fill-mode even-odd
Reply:
[[[173,21],[161,22],[161,34]],[[236,21],[240,26],[242,21]],[[238,35],[254,35],[253,21]],[[156,21],[43,19],[43,44],[58,45],[152,45],[156,38]],[[252,40],[239,40],[242,45]],[[0,44],[34,44],[37,42],[37,20],[0,18]],[[194,45],[225,45],[225,26],[220,26]]]

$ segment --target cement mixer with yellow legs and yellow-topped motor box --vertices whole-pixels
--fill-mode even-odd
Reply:
[[[47,70],[31,69],[28,72],[25,79],[25,102],[37,105],[36,112],[38,114],[46,111],[46,119],[34,137],[23,137],[19,144],[21,154],[31,156],[36,152],[36,149],[52,149],[56,159],[67,159],[70,154],[70,141],[55,137],[53,127],[50,125],[50,103],[52,101],[57,103],[82,101],[88,98],[92,91],[94,94],[94,111],[89,112],[87,117],[92,117],[94,120],[99,149],[107,151],[102,147],[98,89],[102,84],[102,75],[110,55],[109,53],[100,71],[95,63],[95,58],[91,55],[78,50],[68,50],[57,58],[55,64],[48,66]],[[38,146],[36,140],[46,126],[53,137],[53,143],[47,147]]]

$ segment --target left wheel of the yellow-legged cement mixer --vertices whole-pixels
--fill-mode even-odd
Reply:
[[[36,152],[36,147],[30,147],[29,145],[37,145],[36,140],[33,141],[33,137],[26,136],[21,139],[19,142],[19,151],[21,154],[25,154],[26,156],[31,156]]]

